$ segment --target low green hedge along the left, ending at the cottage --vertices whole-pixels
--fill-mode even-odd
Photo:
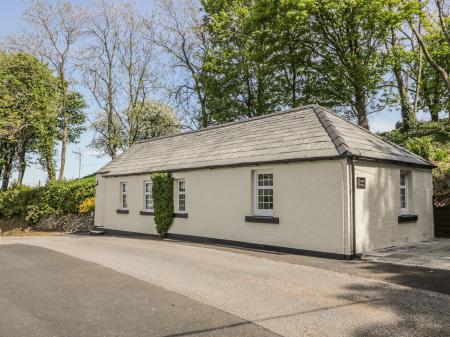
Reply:
[[[93,177],[50,182],[42,187],[16,186],[0,192],[0,218],[22,216],[34,224],[51,214],[78,213],[80,204],[93,196]]]

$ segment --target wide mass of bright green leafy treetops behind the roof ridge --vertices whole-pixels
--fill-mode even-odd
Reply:
[[[211,48],[202,79],[219,122],[321,103],[356,112],[387,72],[390,0],[204,0]]]

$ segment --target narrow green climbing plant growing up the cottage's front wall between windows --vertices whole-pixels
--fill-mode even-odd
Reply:
[[[156,231],[166,236],[173,221],[173,178],[170,173],[152,174]]]

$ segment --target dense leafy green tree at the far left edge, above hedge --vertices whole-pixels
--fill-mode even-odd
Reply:
[[[55,179],[54,148],[58,108],[58,82],[48,67],[35,57],[1,54],[0,57],[0,156],[2,189],[8,188],[14,161],[18,158],[23,179],[27,153],[37,153]]]

